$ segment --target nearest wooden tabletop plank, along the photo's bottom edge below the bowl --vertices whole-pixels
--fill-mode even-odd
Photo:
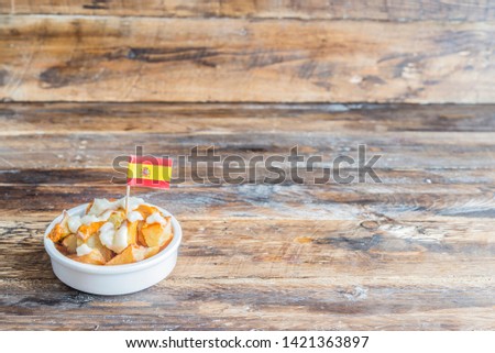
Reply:
[[[0,295],[6,298],[2,299],[6,311],[2,328],[331,331],[494,328],[493,287],[449,290],[431,286],[418,290],[407,285],[400,288],[376,288],[373,284],[338,286],[316,279],[297,280],[293,286],[277,280],[196,280],[194,284],[168,280],[161,288],[122,299],[58,289],[58,284],[53,282],[40,283],[46,291],[36,296],[32,291]]]

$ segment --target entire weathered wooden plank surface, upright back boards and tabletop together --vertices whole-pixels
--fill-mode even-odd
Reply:
[[[494,330],[494,38],[493,1],[0,1],[0,330]],[[136,145],[360,144],[383,183],[134,188],[184,228],[147,290],[52,273],[44,229]]]

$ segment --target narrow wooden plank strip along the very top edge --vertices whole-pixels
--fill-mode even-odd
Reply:
[[[1,1],[0,13],[11,14],[87,14],[170,18],[296,18],[381,21],[490,21],[495,20],[495,4],[491,0],[448,2],[392,1],[289,1],[289,0],[16,0]]]

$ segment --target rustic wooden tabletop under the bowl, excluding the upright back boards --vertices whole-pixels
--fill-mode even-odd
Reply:
[[[2,103],[0,125],[2,330],[495,329],[494,106]],[[182,222],[170,277],[103,297],[53,275],[44,229],[121,196],[111,162],[134,145],[248,158],[296,144],[366,144],[383,183],[134,188]]]

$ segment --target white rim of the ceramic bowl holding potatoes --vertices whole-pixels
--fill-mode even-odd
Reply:
[[[76,206],[76,207],[67,210],[67,213],[69,213],[69,216],[82,216],[86,208],[88,207],[88,205],[89,203]],[[145,268],[152,267],[156,264],[160,264],[160,263],[164,262],[166,258],[168,258],[169,256],[172,256],[175,252],[177,252],[180,241],[183,239],[183,230],[182,230],[180,224],[177,221],[177,219],[167,210],[165,210],[156,205],[152,205],[152,203],[147,203],[147,202],[144,202],[144,205],[156,207],[164,214],[170,216],[172,227],[174,229],[174,238],[173,238],[172,242],[167,245],[167,247],[162,250],[156,255],[153,255],[146,260],[139,261],[136,263],[124,264],[124,265],[114,265],[114,266],[85,264],[85,263],[79,263],[75,260],[68,258],[67,256],[62,254],[55,247],[54,242],[47,236],[50,234],[50,232],[52,231],[52,229],[55,227],[55,224],[62,221],[64,212],[62,212],[58,217],[56,217],[48,224],[48,227],[45,230],[45,234],[43,236],[45,251],[48,253],[52,261],[56,261],[57,263],[59,263],[66,267],[69,267],[72,269],[75,269],[78,272],[88,273],[88,274],[98,274],[98,275],[124,274],[124,273],[131,273],[131,272],[145,269]]]

